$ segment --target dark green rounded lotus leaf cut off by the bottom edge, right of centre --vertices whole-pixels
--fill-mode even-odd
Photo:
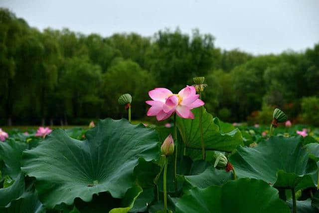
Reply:
[[[223,186],[189,190],[176,213],[290,213],[278,191],[261,180],[239,179]]]

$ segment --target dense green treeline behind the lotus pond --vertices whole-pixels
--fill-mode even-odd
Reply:
[[[150,89],[178,92],[194,76],[206,78],[205,107],[226,121],[262,122],[270,106],[302,121],[302,100],[312,103],[311,110],[319,105],[319,44],[253,56],[217,48],[212,35],[198,30],[161,30],[153,37],[41,32],[0,9],[1,125],[119,118],[126,113],[117,102],[123,93],[133,96],[133,119],[144,119]]]

